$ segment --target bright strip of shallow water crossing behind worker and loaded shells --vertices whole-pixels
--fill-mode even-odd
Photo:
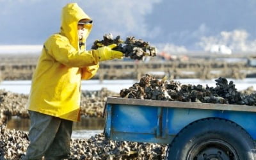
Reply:
[[[201,80],[201,79],[174,79],[182,84],[202,84],[203,86],[216,86],[215,79]],[[256,78],[246,79],[228,79],[228,81],[234,81],[237,90],[245,90],[249,86],[256,88]],[[108,90],[119,93],[123,88],[129,88],[132,84],[138,83],[136,80],[88,80],[82,81],[82,90],[101,90],[102,88],[108,88]],[[29,94],[31,81],[2,81],[0,83],[0,89],[14,93]]]

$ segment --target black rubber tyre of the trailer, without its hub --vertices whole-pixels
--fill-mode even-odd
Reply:
[[[240,160],[255,159],[255,145],[251,136],[242,127],[221,118],[205,118],[182,129],[168,147],[168,160],[193,160],[189,152],[202,141],[220,140],[227,142]]]

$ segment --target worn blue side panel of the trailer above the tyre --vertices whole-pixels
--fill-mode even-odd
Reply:
[[[218,117],[236,122],[254,140],[256,139],[256,113],[164,107],[161,107],[161,112],[159,112],[159,108],[157,106],[108,104],[106,137],[111,140],[171,143],[175,135],[186,125],[202,118]],[[159,113],[161,113],[160,118]],[[161,123],[157,123],[159,120]]]

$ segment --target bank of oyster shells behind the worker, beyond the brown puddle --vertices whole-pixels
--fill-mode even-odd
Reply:
[[[101,117],[107,97],[117,96],[118,93],[110,92],[106,88],[97,91],[82,91],[81,115]],[[29,118],[28,95],[0,90],[0,125],[6,123],[8,116]]]

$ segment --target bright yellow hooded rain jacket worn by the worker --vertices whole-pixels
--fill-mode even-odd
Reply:
[[[33,74],[29,110],[74,122],[80,120],[81,79],[90,79],[99,68],[97,50],[79,48],[77,22],[81,19],[90,17],[76,3],[63,7],[61,32],[44,43]]]

